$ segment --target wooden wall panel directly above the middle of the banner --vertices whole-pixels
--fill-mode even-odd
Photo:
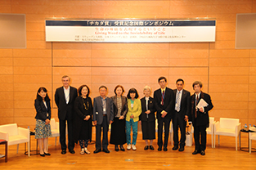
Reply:
[[[168,1],[92,1],[92,18],[154,19],[168,14]]]

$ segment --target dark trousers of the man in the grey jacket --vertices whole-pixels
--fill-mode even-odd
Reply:
[[[103,116],[103,121],[101,124],[96,125],[96,143],[95,147],[97,150],[101,150],[101,127],[103,128],[103,139],[102,139],[102,149],[106,150],[109,145],[108,141],[108,131],[109,123],[107,123],[107,116]]]

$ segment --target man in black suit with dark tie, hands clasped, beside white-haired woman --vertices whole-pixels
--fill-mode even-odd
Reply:
[[[157,110],[158,120],[158,150],[162,150],[163,146],[163,126],[164,126],[164,151],[167,151],[168,133],[170,128],[170,121],[173,113],[174,95],[173,90],[166,87],[167,79],[160,77],[158,79],[160,88],[154,92],[155,109]]]

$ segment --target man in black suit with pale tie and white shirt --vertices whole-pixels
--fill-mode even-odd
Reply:
[[[190,114],[191,108],[191,93],[183,89],[184,81],[182,79],[177,79],[176,87],[173,90],[175,96],[175,106],[173,112],[173,150],[178,149],[178,127],[181,131],[180,149],[178,151],[183,151],[186,141],[186,120]]]

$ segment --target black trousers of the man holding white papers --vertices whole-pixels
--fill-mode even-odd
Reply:
[[[195,150],[205,150],[206,148],[206,126],[205,125],[194,127],[194,140],[195,140]]]

